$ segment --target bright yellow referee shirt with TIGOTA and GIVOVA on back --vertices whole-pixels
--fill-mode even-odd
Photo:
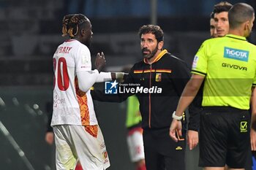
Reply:
[[[195,55],[192,73],[205,76],[203,107],[249,109],[256,85],[256,46],[233,34],[208,39]]]

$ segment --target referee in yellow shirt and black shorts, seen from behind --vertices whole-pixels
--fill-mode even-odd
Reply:
[[[178,141],[178,121],[191,104],[200,85],[203,112],[200,115],[200,159],[204,170],[244,169],[248,152],[256,150],[256,132],[250,128],[249,102],[252,93],[252,123],[256,104],[256,47],[246,41],[252,31],[255,11],[238,3],[228,12],[229,34],[203,42],[195,55],[192,77],[181,95],[170,136]],[[252,125],[251,125],[252,127]],[[251,144],[250,144],[251,136]]]

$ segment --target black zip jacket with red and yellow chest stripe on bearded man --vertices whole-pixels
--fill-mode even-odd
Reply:
[[[159,92],[159,89],[162,88],[162,93],[136,93],[136,96],[140,102],[143,129],[169,128],[173,111],[176,110],[179,97],[189,78],[187,64],[167,53],[167,50],[162,50],[151,64],[146,59],[135,63],[119,88],[123,89],[125,85],[129,85],[129,87],[140,85],[140,87],[148,89],[154,87],[154,92]],[[133,93],[105,95],[99,90],[91,91],[92,98],[98,101],[121,102],[131,95]],[[196,107],[189,107],[189,112],[198,115]],[[195,118],[191,114],[190,117],[194,119],[189,123],[192,127],[189,129],[197,131],[199,117]]]

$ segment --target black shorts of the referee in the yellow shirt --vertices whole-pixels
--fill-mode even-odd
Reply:
[[[246,165],[250,144],[248,110],[233,107],[204,107],[200,115],[199,166],[233,169]]]

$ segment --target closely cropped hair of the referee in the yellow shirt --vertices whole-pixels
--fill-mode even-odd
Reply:
[[[234,4],[228,12],[230,28],[238,28],[238,26],[241,26],[241,23],[252,20],[254,13],[255,10],[249,4]]]

